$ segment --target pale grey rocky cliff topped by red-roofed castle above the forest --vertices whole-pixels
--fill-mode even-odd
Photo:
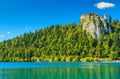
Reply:
[[[99,39],[105,33],[110,33],[112,31],[107,22],[106,14],[104,14],[104,17],[94,13],[84,14],[80,17],[80,23],[82,24],[82,28],[96,39]]]

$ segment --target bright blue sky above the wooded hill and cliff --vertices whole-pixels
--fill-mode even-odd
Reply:
[[[0,0],[0,42],[50,25],[78,24],[90,12],[120,20],[120,0]]]

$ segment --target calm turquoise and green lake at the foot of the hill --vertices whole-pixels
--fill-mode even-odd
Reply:
[[[0,63],[0,79],[120,79],[120,63]]]

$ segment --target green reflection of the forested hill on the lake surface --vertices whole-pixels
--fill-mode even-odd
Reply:
[[[0,79],[119,79],[120,64],[117,64],[88,64],[88,67],[79,68],[0,68]]]

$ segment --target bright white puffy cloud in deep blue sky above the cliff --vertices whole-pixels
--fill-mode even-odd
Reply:
[[[109,2],[99,2],[95,4],[94,6],[96,6],[98,9],[105,9],[105,8],[115,7],[115,4],[109,3]]]

